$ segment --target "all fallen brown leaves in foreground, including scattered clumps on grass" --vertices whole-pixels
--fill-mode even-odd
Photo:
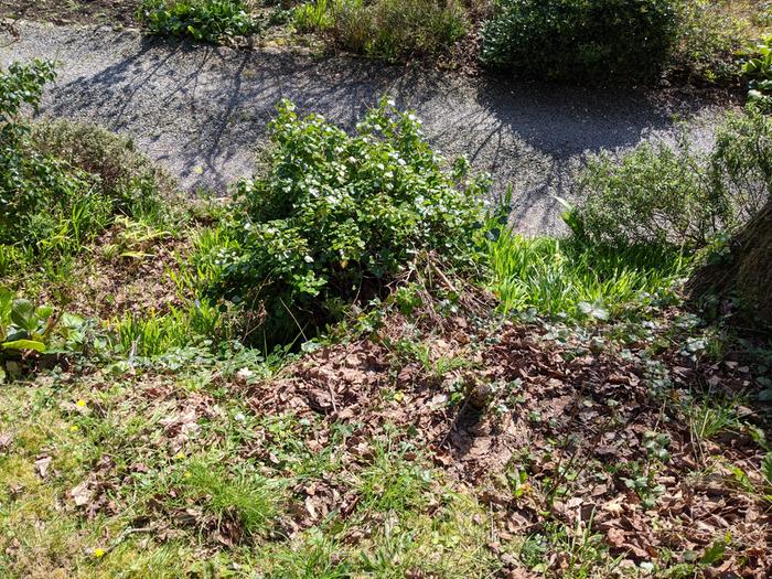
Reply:
[[[376,335],[322,347],[271,379],[248,368],[212,379],[245,396],[257,417],[308,419],[312,427],[293,436],[312,454],[334,447],[344,470],[372,463],[373,441],[386,432],[409,439],[490,508],[492,545],[558,523],[576,533],[591,529],[621,565],[633,566],[657,561],[664,553],[673,553],[675,561],[698,560],[726,540],[721,559],[703,569],[706,576],[768,577],[770,513],[737,474],[739,469],[758,483],[762,451],[742,431],[695,437],[680,404],[705,385],[728,394],[747,388],[749,367],[735,360],[695,365],[667,351],[658,361],[675,387],[655,396],[644,356],[637,355],[645,344],[622,355],[592,340],[576,335],[558,342],[542,325],[497,324],[483,317],[416,321],[392,314]],[[405,344],[420,344],[422,355]],[[162,417],[153,451],[165,457],[206,448],[214,441],[203,438],[215,435],[202,423],[224,420],[211,395],[181,389],[173,376],[140,378],[132,396],[147,404],[148,416]],[[749,419],[755,411],[741,409]],[[341,423],[347,427],[342,439],[335,435]],[[651,432],[667,439],[667,460],[652,461],[645,444]],[[228,460],[257,458],[271,475],[283,476],[285,459],[276,454],[269,429],[253,435]],[[9,438],[0,446],[10,443]],[[51,475],[51,460],[39,457],[41,478]],[[115,513],[114,491],[127,476],[147,471],[141,460],[117,467],[105,454],[69,489],[67,502],[88,518]],[[641,476],[643,490],[629,484]],[[655,500],[647,502],[652,487]],[[292,500],[276,524],[285,537],[331,516],[347,518],[361,500],[345,476],[303,480],[289,491]],[[212,545],[230,547],[243,539],[237,517],[214,517],[195,502],[172,508],[169,498],[182,496],[170,493],[148,505],[159,539],[173,539],[185,527],[203,532]],[[354,527],[344,542],[355,543],[363,533]],[[503,577],[530,577],[510,560],[510,551],[500,550]],[[566,557],[553,553],[550,570],[565,570]]]

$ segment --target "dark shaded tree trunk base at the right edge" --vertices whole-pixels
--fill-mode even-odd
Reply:
[[[728,262],[695,271],[686,286],[689,297],[739,298],[754,321],[772,328],[772,201],[732,239],[730,249]]]

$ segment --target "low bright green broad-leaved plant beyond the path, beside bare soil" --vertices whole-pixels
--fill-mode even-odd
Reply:
[[[142,0],[138,19],[151,34],[213,43],[257,30],[244,0]]]

